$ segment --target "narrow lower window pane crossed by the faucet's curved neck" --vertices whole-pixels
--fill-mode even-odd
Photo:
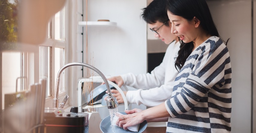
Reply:
[[[55,48],[55,80],[57,79],[57,75],[59,70],[64,66],[64,48]],[[65,70],[62,71],[61,77],[60,77],[60,88],[59,92],[65,91],[64,89],[64,75]],[[56,81],[55,81],[56,85]]]

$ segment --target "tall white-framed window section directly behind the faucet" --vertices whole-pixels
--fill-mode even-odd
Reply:
[[[55,85],[58,71],[65,64],[65,51],[66,51],[66,37],[65,29],[67,24],[65,23],[64,7],[48,23],[48,38],[46,42],[39,47],[39,64],[40,64],[40,78],[47,78],[47,95],[46,95],[46,107],[52,107],[52,99],[54,98]],[[65,95],[65,70],[61,73],[59,99]]]

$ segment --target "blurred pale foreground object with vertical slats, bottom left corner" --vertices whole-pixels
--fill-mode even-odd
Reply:
[[[47,80],[30,86],[28,91],[6,94],[4,133],[41,133],[44,130],[44,105]]]

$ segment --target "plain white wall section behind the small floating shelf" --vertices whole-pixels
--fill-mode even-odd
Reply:
[[[88,1],[88,21],[117,22],[116,27],[88,27],[88,64],[111,76],[146,72],[146,23],[140,17],[144,7],[146,0]]]

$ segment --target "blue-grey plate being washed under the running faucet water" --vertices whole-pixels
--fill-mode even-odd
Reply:
[[[121,114],[126,114],[125,112],[120,112]],[[144,120],[142,123],[140,123],[138,133],[143,132],[147,128],[147,121]],[[132,132],[130,130],[124,130],[123,128],[120,128],[118,126],[111,126],[111,121],[110,121],[110,115],[104,118],[100,122],[100,130],[103,133],[137,133],[137,132]]]

